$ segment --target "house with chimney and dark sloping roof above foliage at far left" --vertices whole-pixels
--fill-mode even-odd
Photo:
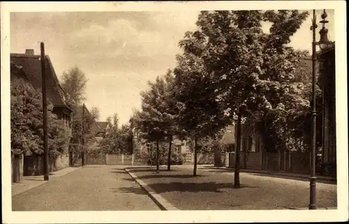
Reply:
[[[10,54],[11,79],[25,79],[35,89],[41,91],[41,61],[40,55],[35,55],[34,50],[27,49],[26,54]],[[66,104],[66,93],[59,84],[56,72],[49,56],[45,56],[46,64],[46,83],[47,99],[53,105],[52,113],[56,114],[59,119],[64,120],[67,126],[70,126],[72,109]]]

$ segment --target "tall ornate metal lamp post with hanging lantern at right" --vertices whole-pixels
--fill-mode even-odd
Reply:
[[[312,136],[311,136],[311,177],[310,177],[310,202],[309,202],[309,209],[316,209],[316,177],[315,177],[315,166],[316,166],[316,93],[315,93],[315,84],[316,84],[316,45],[319,45],[320,49],[326,49],[330,42],[327,38],[328,30],[325,28],[325,24],[327,24],[327,13],[324,9],[321,18],[322,20],[320,23],[322,23],[322,29],[320,30],[320,40],[319,42],[316,42],[315,40],[315,30],[318,28],[318,25],[316,24],[316,15],[315,10],[313,10],[313,19],[312,19],[312,25],[311,25],[311,31],[313,31],[313,42],[312,42],[312,62],[313,62],[313,105],[312,105],[312,122],[311,122],[311,130],[312,130]]]

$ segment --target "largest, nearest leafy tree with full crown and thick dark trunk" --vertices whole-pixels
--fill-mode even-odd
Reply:
[[[285,46],[307,15],[297,10],[203,11],[198,31],[187,33],[181,42],[189,55],[186,61],[195,58],[191,70],[209,77],[214,89],[200,85],[202,81],[191,86],[201,86],[201,91],[205,89],[223,105],[221,111],[237,120],[235,187],[239,187],[242,118],[309,108],[304,84],[295,82],[295,68],[305,52]],[[270,33],[262,31],[263,20],[273,23]],[[202,102],[209,97],[195,98]]]

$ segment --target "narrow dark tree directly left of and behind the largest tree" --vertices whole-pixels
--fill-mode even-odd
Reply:
[[[198,163],[198,139],[218,134],[229,121],[226,111],[214,97],[216,85],[203,60],[202,40],[198,33],[187,32],[179,46],[183,55],[177,56],[175,97],[179,109],[180,129],[194,140],[194,167]]]

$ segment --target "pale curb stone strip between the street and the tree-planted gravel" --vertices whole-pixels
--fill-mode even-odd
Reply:
[[[168,200],[165,200],[165,198],[163,198],[161,195],[156,193],[154,189],[151,189],[151,187],[148,186],[146,183],[144,183],[142,179],[138,178],[137,175],[135,175],[134,173],[131,173],[131,171],[128,170],[128,168],[124,168],[124,170],[126,171],[126,173],[128,173],[128,175],[130,175],[133,179],[135,179],[135,182],[140,184],[140,187],[148,193],[149,197],[156,203],[156,205],[158,205],[158,207],[160,207],[161,210],[163,211],[179,210],[177,209],[177,207],[174,207],[173,205],[171,205],[170,202],[168,202]]]

